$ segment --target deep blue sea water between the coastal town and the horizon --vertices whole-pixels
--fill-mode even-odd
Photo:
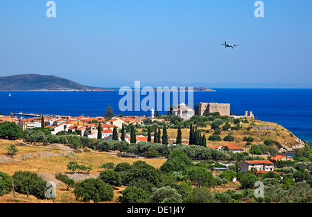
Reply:
[[[116,114],[150,115],[144,111],[119,110],[123,95],[113,92],[0,92],[0,112],[32,112],[101,116],[107,105]],[[186,94],[187,95],[187,94]],[[155,95],[156,96],[156,95]],[[141,99],[145,96],[141,96]],[[300,139],[312,141],[312,89],[216,89],[193,92],[193,104],[230,103],[231,112],[243,115],[252,111],[255,118],[283,125]],[[166,114],[166,112],[163,112]]]

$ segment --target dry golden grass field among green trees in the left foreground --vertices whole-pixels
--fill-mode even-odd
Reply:
[[[80,150],[73,151],[67,146],[63,145],[27,145],[27,146],[17,146],[19,152],[16,156],[10,158],[6,156],[7,147],[10,144],[19,144],[18,141],[8,141],[0,139],[0,171],[13,175],[16,171],[31,171],[37,173],[38,175],[43,174],[46,177],[54,177],[55,175],[62,173],[67,174],[70,171],[67,169],[67,164],[71,161],[78,162],[78,164],[83,164],[85,166],[92,166],[92,171],[90,171],[88,177],[96,177],[103,168],[100,166],[103,163],[114,162],[118,164],[121,162],[128,162],[133,164],[138,160],[143,160],[147,164],[159,168],[164,164],[166,159],[135,159],[135,158],[125,158],[118,157],[115,152],[97,152],[93,150]],[[27,158],[28,157],[28,158]],[[125,189],[125,186],[114,189],[114,200],[112,202],[117,202],[117,198],[120,196],[120,192]],[[56,196],[54,202],[78,202],[75,196],[71,192],[72,189],[67,191],[65,184],[60,184],[56,188]],[[18,203],[41,203],[41,202],[53,202],[52,200],[39,200],[34,196],[26,196],[20,193],[6,194],[0,197],[0,203],[3,202],[18,202]]]

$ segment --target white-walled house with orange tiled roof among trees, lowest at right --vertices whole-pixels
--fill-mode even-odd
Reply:
[[[241,162],[241,171],[243,173],[250,171],[251,168],[257,171],[274,171],[274,164],[269,160],[245,160]]]

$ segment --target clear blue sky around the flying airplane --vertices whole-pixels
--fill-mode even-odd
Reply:
[[[47,1],[0,0],[0,76],[312,85],[311,0],[263,0],[263,18],[256,0],[55,0],[56,18]]]

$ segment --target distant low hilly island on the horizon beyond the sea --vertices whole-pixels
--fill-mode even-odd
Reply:
[[[170,88],[170,87],[169,87]],[[180,87],[177,87],[180,88]],[[58,76],[34,73],[0,77],[0,91],[116,91],[113,87],[90,87]],[[156,89],[155,89],[156,90]],[[171,89],[172,90],[172,89]],[[186,91],[188,88],[186,87]],[[193,87],[193,92],[216,92],[206,87]]]

